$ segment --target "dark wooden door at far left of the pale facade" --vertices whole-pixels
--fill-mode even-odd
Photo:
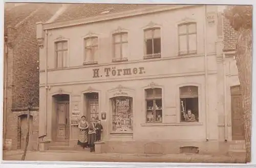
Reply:
[[[54,95],[54,113],[53,113],[53,139],[63,141],[69,139],[69,94]]]

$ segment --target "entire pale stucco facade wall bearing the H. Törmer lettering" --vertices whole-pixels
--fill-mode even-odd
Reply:
[[[214,6],[207,7],[207,12],[216,12]],[[217,12],[214,16],[217,15]],[[178,17],[177,17],[178,16]],[[161,19],[160,19],[161,18]],[[119,140],[201,140],[205,141],[206,124],[208,124],[209,140],[224,140],[224,107],[223,103],[223,69],[221,45],[217,46],[217,22],[207,26],[207,69],[208,69],[208,120],[206,119],[206,90],[204,64],[204,6],[188,9],[165,11],[157,14],[141,15],[125,19],[102,21],[75,27],[59,28],[48,31],[48,44],[40,50],[40,103],[41,123],[44,123],[45,112],[45,55],[48,49],[48,86],[50,86],[47,113],[48,135],[51,136],[52,123],[52,95],[59,89],[70,94],[70,112],[74,103],[78,103],[79,110],[83,111],[83,92],[91,88],[99,92],[99,110],[107,113],[107,119],[102,121],[104,127],[103,139]],[[197,54],[178,56],[178,27],[184,21],[197,22]],[[215,20],[216,21],[216,20]],[[161,28],[161,58],[143,60],[144,39],[143,29],[149,23],[155,23]],[[127,62],[112,62],[112,33],[121,27],[129,33],[129,56]],[[102,29],[104,28],[104,29]],[[95,33],[99,37],[99,58],[96,65],[83,65],[83,38]],[[68,67],[54,69],[54,42],[58,39],[68,40]],[[219,47],[219,48],[218,48]],[[218,48],[218,49],[217,49]],[[227,66],[227,64],[226,64]],[[143,69],[141,68],[143,67]],[[110,68],[110,76],[106,76],[105,68]],[[137,68],[137,73],[134,73]],[[141,69],[140,69],[141,68]],[[227,68],[227,67],[226,67]],[[95,69],[98,69],[95,70]],[[116,75],[112,70],[116,70]],[[120,75],[117,69],[122,69]],[[131,69],[131,74],[123,73],[123,69]],[[141,73],[140,73],[141,70]],[[98,72],[95,75],[95,72]],[[114,71],[113,71],[114,72]],[[227,71],[228,73],[228,71]],[[115,74],[115,73],[114,73]],[[236,72],[234,72],[236,74]],[[101,76],[102,75],[102,76]],[[94,78],[95,77],[95,78]],[[230,78],[231,79],[231,78]],[[237,82],[234,77],[231,83]],[[154,82],[156,87],[162,88],[163,123],[145,124],[144,89]],[[111,133],[111,109],[109,105],[109,91],[118,85],[130,88],[133,97],[133,136],[120,136]],[[199,87],[199,123],[181,124],[179,87],[196,85]],[[222,88],[222,89],[220,89]],[[227,102],[230,94],[227,95]],[[228,121],[230,122],[231,108],[228,105]],[[83,113],[82,113],[83,114]],[[82,115],[81,114],[81,115]],[[72,133],[71,133],[72,134]],[[231,136],[230,127],[228,137]]]

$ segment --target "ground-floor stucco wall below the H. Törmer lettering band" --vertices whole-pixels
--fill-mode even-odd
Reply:
[[[209,83],[215,80],[216,75],[209,76]],[[148,88],[150,83],[154,82],[155,87],[162,88],[163,97],[163,123],[162,124],[145,124],[145,106],[144,106],[144,89]],[[182,124],[179,121],[180,118],[180,104],[179,104],[179,87],[187,85],[195,85],[199,87],[199,123]],[[74,84],[65,86],[52,86],[48,95],[48,124],[50,126],[51,111],[52,111],[52,95],[57,94],[59,89],[62,89],[63,93],[70,93],[70,107],[73,110],[73,104],[78,103],[78,108],[83,114],[82,101],[83,92],[88,88],[93,88],[100,93],[99,95],[99,110],[107,113],[107,119],[102,121],[104,127],[103,138],[110,139],[115,138],[110,136],[111,131],[111,108],[109,105],[109,90],[122,85],[125,88],[133,90],[134,108],[133,108],[133,127],[134,134],[133,139],[135,140],[204,140],[206,138],[205,130],[205,88],[204,88],[204,76],[190,76],[190,77],[173,77],[173,78],[162,78],[162,79],[148,79],[140,81],[122,81],[122,82],[105,82],[105,83],[94,83],[94,84]],[[214,84],[209,84],[209,93],[214,94],[216,87]],[[41,88],[44,94],[44,88]],[[209,99],[209,102],[215,103],[214,96]],[[40,99],[40,104],[44,105],[45,99]],[[40,110],[43,110],[40,106]],[[214,105],[209,106],[209,132],[210,139],[218,139],[218,113]],[[48,127],[48,133],[50,134],[52,128]],[[196,132],[195,132],[196,131]]]

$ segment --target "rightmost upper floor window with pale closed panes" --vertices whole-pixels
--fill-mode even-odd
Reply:
[[[197,54],[197,24],[179,25],[179,55]]]

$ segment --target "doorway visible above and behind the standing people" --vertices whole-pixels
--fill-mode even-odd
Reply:
[[[87,121],[90,122],[92,117],[99,118],[99,93],[84,93],[84,115]]]

